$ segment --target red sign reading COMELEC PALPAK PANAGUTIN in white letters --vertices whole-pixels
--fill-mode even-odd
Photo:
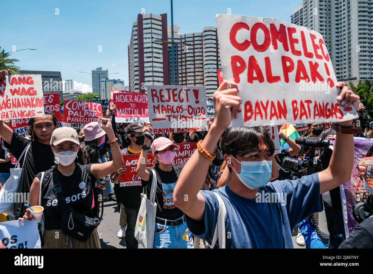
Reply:
[[[93,102],[65,100],[63,107],[63,122],[74,128],[83,127],[103,116],[101,104]]]

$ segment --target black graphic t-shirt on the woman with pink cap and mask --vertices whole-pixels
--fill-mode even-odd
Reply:
[[[173,189],[175,188],[176,182],[178,181],[179,174],[184,165],[172,167],[172,171],[164,171],[156,165],[154,168],[147,168],[149,171],[149,180],[141,180],[142,186],[147,188],[147,197],[150,199],[151,182],[153,180],[153,172],[150,169],[154,169],[157,174],[157,190],[156,190],[156,203],[157,203],[157,214],[156,216],[166,220],[176,220],[181,218],[184,213],[175,207],[173,203]]]

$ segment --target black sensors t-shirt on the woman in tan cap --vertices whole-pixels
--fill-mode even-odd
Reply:
[[[75,170],[70,176],[64,176],[57,170],[59,182],[61,184],[63,198],[66,207],[73,208],[74,211],[94,218],[92,213],[93,188],[96,178],[91,172],[91,165],[75,164]],[[41,173],[37,174],[41,179]],[[57,196],[53,192],[53,174],[51,170],[44,173],[41,186],[41,204],[44,207],[45,229],[61,229],[62,215],[58,208]],[[67,208],[66,208],[67,209]]]

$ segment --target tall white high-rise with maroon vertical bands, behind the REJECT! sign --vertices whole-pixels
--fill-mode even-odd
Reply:
[[[158,40],[158,41],[156,41]],[[129,87],[145,92],[148,85],[169,85],[167,14],[139,14],[128,46]]]

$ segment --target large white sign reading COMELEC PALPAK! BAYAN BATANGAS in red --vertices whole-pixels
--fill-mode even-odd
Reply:
[[[234,126],[346,121],[321,34],[278,19],[216,15],[224,78],[238,84],[242,115]],[[272,123],[273,125],[273,123]]]

